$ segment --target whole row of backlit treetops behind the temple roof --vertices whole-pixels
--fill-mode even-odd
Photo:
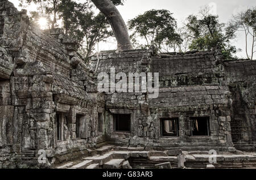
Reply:
[[[125,0],[19,0],[20,6],[35,3],[38,11],[30,12],[31,23],[40,25],[40,19],[47,20],[46,29],[61,28],[63,32],[76,38],[80,53],[89,57],[98,42],[115,36],[118,49],[146,49],[154,46],[159,53],[186,52],[187,50],[211,50],[219,46],[225,59],[237,58],[238,52],[231,41],[237,31],[245,32],[246,56],[253,59],[256,53],[256,8],[249,8],[234,15],[229,24],[221,23],[217,15],[203,8],[196,15],[189,15],[184,26],[177,28],[173,14],[168,10],[150,10],[129,20],[128,27],[115,6]],[[101,11],[95,13],[94,5]],[[111,29],[112,28],[112,29]],[[251,49],[250,49],[251,48]]]

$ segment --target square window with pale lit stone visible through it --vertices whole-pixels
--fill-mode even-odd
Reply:
[[[161,119],[162,136],[179,136],[179,118]]]

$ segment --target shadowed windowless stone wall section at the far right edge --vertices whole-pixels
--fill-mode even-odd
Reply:
[[[228,61],[224,82],[232,93],[232,139],[237,148],[255,144],[256,62]]]

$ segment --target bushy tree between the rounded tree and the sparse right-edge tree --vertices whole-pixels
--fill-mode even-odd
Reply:
[[[220,46],[225,59],[233,58],[237,52],[236,47],[230,44],[230,40],[236,37],[234,29],[220,23],[217,15],[209,14],[208,7],[202,9],[198,16],[189,15],[186,26],[192,38],[190,50],[205,51]]]

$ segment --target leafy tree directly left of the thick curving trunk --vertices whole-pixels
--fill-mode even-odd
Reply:
[[[123,1],[115,0],[114,3],[116,5],[122,5]],[[75,5],[75,8],[72,8],[72,13],[70,9],[73,6],[66,5],[67,3],[65,3],[63,8],[64,11],[61,11],[63,12],[63,19],[67,19],[67,21],[64,20],[64,27],[65,24],[68,24],[67,34],[81,42],[82,47],[80,48],[80,53],[85,57],[89,57],[92,54],[98,42],[105,41],[108,37],[114,36],[106,16],[101,12],[94,14],[90,1],[87,1],[86,4]],[[84,9],[82,7],[87,8]]]

